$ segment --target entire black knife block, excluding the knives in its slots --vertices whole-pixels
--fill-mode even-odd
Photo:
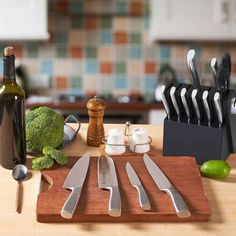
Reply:
[[[186,84],[180,84],[178,87],[181,88],[183,85],[186,86]],[[171,86],[176,86],[176,83],[169,85],[168,89]],[[192,90],[191,87],[189,87],[189,91]],[[201,94],[204,90],[209,91],[209,107],[214,113],[213,96],[216,89],[202,87],[199,93]],[[190,92],[186,95],[188,99],[191,99]],[[178,90],[176,96],[176,99],[180,99]],[[202,164],[208,160],[225,160],[231,153],[236,152],[236,114],[231,114],[231,100],[235,96],[234,90],[228,90],[225,95],[221,94],[223,115],[221,127],[218,127],[214,120],[209,127],[204,113],[200,125],[194,118],[188,123],[186,117],[182,117],[180,121],[175,119],[175,116],[173,119],[166,117],[164,119],[163,156],[193,156],[198,164]]]

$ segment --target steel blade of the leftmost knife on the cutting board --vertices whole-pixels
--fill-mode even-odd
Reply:
[[[72,167],[69,174],[66,177],[63,188],[78,188],[82,187],[90,161],[90,154],[82,156]]]

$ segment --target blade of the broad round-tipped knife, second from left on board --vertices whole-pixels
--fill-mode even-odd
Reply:
[[[113,160],[108,156],[99,157],[98,186],[99,188],[118,186],[115,165]]]

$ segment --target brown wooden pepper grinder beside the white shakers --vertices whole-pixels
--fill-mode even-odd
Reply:
[[[87,109],[89,114],[87,144],[92,147],[99,147],[105,135],[103,127],[105,102],[100,98],[94,97],[87,102]]]

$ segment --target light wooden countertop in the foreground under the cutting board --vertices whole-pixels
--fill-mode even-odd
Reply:
[[[73,124],[72,126],[75,126]],[[116,125],[117,126],[117,125]],[[162,148],[162,126],[143,125],[153,139],[152,145]],[[105,125],[105,131],[114,125]],[[135,127],[135,125],[134,125]],[[124,128],[124,125],[120,125]],[[82,124],[75,143],[64,151],[67,155],[83,155],[90,152],[99,155],[99,149],[86,145],[87,124]],[[28,159],[30,161],[30,158]],[[40,173],[31,172],[24,185],[24,202],[21,214],[15,212],[15,195],[17,183],[11,177],[11,171],[0,167],[0,235],[24,236],[62,236],[62,235],[235,235],[236,234],[236,154],[228,159],[232,167],[226,180],[202,178],[204,190],[208,197],[212,217],[204,223],[74,223],[74,224],[42,224],[36,221],[36,201],[39,192]],[[194,186],[193,186],[194,187]]]

